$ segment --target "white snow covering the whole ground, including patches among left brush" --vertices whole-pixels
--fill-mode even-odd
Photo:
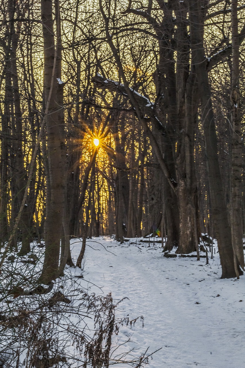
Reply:
[[[71,240],[74,261],[81,245],[81,239]],[[34,253],[38,257],[36,265],[25,262],[29,258],[24,256],[6,261],[7,269],[10,273],[11,269],[20,270],[28,280],[32,279],[42,268],[43,252],[44,248],[33,243],[29,255]],[[135,367],[136,364],[125,361],[136,361],[145,353],[150,355],[150,368],[242,368],[245,360],[245,277],[220,279],[221,266],[215,242],[214,259],[210,258],[209,253],[208,265],[205,258],[200,261],[180,256],[166,258],[159,238],[132,238],[121,245],[111,237],[93,238],[87,240],[84,269],[67,267],[65,276],[56,280],[51,293],[36,298],[37,302],[39,299],[40,302],[49,301],[55,292],[62,290],[71,300],[70,304],[61,303],[59,308],[63,308],[64,315],[61,314],[60,322],[55,325],[70,367],[80,367],[83,360],[70,340],[72,331],[79,326],[78,331],[84,330],[86,336],[92,336],[95,328],[91,318],[93,311],[88,315],[85,305],[81,304],[87,292],[91,300],[111,293],[114,304],[118,304],[117,322],[136,319],[121,324],[118,335],[113,335],[111,364],[116,368]],[[21,273],[16,273],[15,277]],[[7,280],[4,283],[7,285]],[[17,282],[18,285],[22,284]],[[26,282],[22,286],[25,292],[33,288],[31,280],[30,286]],[[14,298],[11,295],[4,302],[8,302],[9,308],[17,311],[21,306],[27,308],[28,294]],[[52,309],[48,313],[52,315]],[[5,364],[7,360],[15,359],[11,358],[15,348],[12,346],[14,350],[11,350],[8,346],[8,334],[0,341],[0,366],[4,367],[9,366]],[[25,349],[21,350],[22,363]],[[116,360],[120,362],[114,364]]]

